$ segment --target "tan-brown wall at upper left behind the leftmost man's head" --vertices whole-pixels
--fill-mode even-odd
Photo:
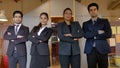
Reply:
[[[0,3],[0,10],[5,10],[5,14],[7,16],[8,22],[11,23],[12,20],[12,13],[15,10],[21,10],[24,14],[32,11],[42,3],[46,2],[47,0],[19,0],[15,2],[14,0],[1,0]]]

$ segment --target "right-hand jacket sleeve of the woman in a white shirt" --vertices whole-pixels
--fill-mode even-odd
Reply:
[[[45,34],[41,34],[40,36],[36,34],[35,37],[44,42],[44,41],[48,41],[51,35],[52,35],[52,29],[49,28]]]

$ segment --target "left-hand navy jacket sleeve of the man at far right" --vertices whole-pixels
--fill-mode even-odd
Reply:
[[[82,27],[83,31],[84,31],[84,37],[86,39],[91,39],[91,38],[94,38],[94,36],[96,36],[98,33],[97,31],[90,31],[88,30],[88,26],[86,23],[83,23],[83,27]]]

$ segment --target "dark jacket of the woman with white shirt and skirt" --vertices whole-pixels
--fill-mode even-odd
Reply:
[[[28,39],[32,42],[31,47],[31,55],[34,55],[37,49],[37,52],[39,55],[50,55],[49,53],[49,47],[48,47],[48,40],[52,34],[51,28],[45,28],[40,36],[37,35],[37,32],[35,34],[30,33],[28,36]],[[40,40],[42,42],[40,42]]]

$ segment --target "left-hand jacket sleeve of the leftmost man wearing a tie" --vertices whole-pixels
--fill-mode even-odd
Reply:
[[[17,39],[17,36],[13,33],[14,31],[11,30],[11,27],[12,26],[9,26],[6,30],[6,32],[4,33],[4,39],[5,40],[15,40],[15,39]],[[8,35],[8,32],[10,32],[11,35]]]

